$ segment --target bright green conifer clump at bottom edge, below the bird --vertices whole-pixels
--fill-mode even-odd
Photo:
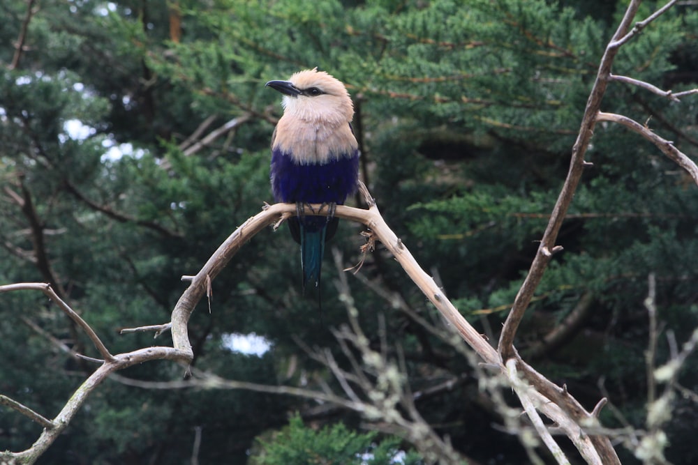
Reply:
[[[258,452],[251,465],[420,465],[415,452],[400,449],[400,440],[383,439],[376,443],[375,433],[359,434],[342,423],[315,431],[303,425],[296,413],[288,427],[272,434],[269,440],[257,439]]]

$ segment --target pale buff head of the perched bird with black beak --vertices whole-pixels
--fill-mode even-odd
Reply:
[[[266,86],[283,93],[284,115],[333,124],[348,123],[354,116],[344,84],[317,68],[299,71],[288,81],[269,81]]]

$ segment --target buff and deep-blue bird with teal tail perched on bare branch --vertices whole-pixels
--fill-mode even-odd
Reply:
[[[296,204],[298,214],[288,220],[288,227],[301,248],[303,291],[311,284],[319,298],[325,242],[338,225],[334,208],[359,183],[359,144],[351,125],[354,105],[346,86],[318,68],[267,86],[283,94],[283,116],[272,134],[272,194],[276,202]],[[326,205],[329,214],[303,215],[304,204]]]

